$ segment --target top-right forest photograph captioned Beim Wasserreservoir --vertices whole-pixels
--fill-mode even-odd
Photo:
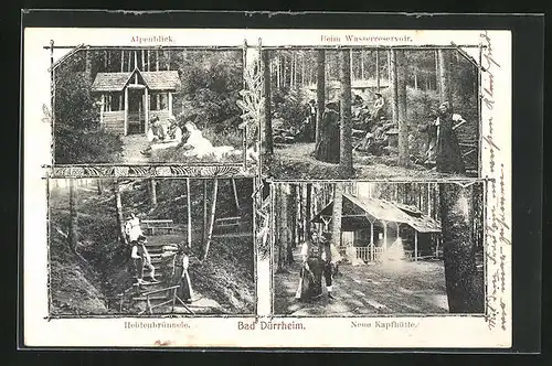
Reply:
[[[479,176],[480,45],[262,53],[264,175]]]

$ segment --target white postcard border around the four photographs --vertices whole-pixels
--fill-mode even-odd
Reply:
[[[322,42],[322,35],[340,36],[340,42]],[[364,36],[396,36],[408,42],[344,41],[347,34]],[[486,34],[482,37],[481,34]],[[136,45],[134,35],[171,36],[174,46],[241,46],[244,39],[255,46],[262,39],[264,46],[390,46],[390,45],[443,45],[489,44],[487,55],[497,62],[482,74],[482,93],[495,101],[482,105],[482,177],[493,180],[489,184],[487,201],[488,279],[505,278],[505,289],[499,289],[488,304],[498,311],[496,326],[489,326],[484,317],[427,316],[427,317],[367,317],[355,322],[372,324],[371,327],[353,327],[352,319],[296,319],[305,330],[261,330],[269,314],[270,271],[267,260],[257,262],[258,303],[263,315],[253,331],[238,330],[238,322],[247,319],[159,319],[159,322],[185,324],[181,329],[125,329],[126,321],[136,319],[63,319],[47,316],[47,252],[46,252],[46,187],[42,177],[50,164],[50,125],[41,122],[42,105],[50,104],[49,50],[55,45]],[[488,37],[488,39],[487,39]],[[150,44],[148,44],[150,45]],[[478,60],[478,49],[466,50]],[[56,50],[57,60],[68,50]],[[250,51],[248,51],[250,54]],[[509,31],[406,31],[406,30],[126,30],[126,29],[25,29],[24,31],[24,345],[25,346],[198,346],[198,347],[509,347],[511,346],[511,35]],[[492,95],[485,92],[490,87]],[[491,130],[492,129],[492,130]],[[498,149],[497,149],[498,148]],[[493,165],[492,165],[493,164]],[[493,185],[495,184],[495,185]],[[492,191],[495,187],[495,191]],[[495,193],[493,193],[495,192]],[[490,229],[489,229],[490,228]],[[493,229],[496,228],[496,229]],[[496,265],[495,265],[496,260]],[[500,266],[502,263],[502,266]],[[489,281],[491,282],[491,281]],[[262,283],[266,283],[263,287]],[[501,308],[501,303],[505,308]],[[500,319],[505,314],[506,323]],[[286,319],[272,319],[274,323]],[[151,320],[141,320],[148,323]],[[412,322],[414,327],[378,327],[376,322]],[[393,324],[393,323],[391,323]]]

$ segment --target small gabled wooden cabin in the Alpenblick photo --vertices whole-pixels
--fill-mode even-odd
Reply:
[[[98,73],[92,92],[102,103],[100,126],[117,134],[146,133],[151,118],[172,115],[172,95],[180,86],[176,71]]]

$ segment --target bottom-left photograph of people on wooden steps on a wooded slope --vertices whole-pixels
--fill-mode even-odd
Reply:
[[[252,193],[252,179],[50,179],[50,315],[254,314]]]

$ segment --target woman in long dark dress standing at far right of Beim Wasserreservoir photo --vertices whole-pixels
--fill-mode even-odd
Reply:
[[[460,146],[456,137],[456,122],[450,105],[445,101],[439,106],[437,125],[436,169],[440,173],[466,174]]]

